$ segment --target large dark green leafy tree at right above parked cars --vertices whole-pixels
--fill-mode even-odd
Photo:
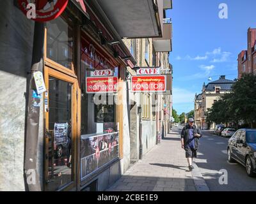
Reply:
[[[253,128],[256,112],[256,76],[244,74],[232,86],[232,92],[214,102],[206,112],[207,122],[238,124],[243,120]]]

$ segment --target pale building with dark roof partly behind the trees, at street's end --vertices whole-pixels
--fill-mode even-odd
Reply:
[[[195,96],[195,121],[196,125],[202,129],[214,129],[214,123],[209,124],[206,121],[206,115],[208,108],[211,108],[215,101],[218,101],[221,96],[232,91],[232,85],[234,80],[228,80],[225,76],[221,76],[219,80],[210,82],[207,85],[203,85],[202,94],[196,94]],[[223,107],[225,108],[225,107]]]

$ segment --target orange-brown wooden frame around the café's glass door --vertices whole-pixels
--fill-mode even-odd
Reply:
[[[48,66],[44,66],[44,77],[45,77],[45,86],[47,89],[47,96],[44,94],[44,101],[47,99],[49,105],[49,76],[58,78],[65,82],[69,82],[72,84],[72,99],[71,99],[71,107],[72,107],[72,182],[66,184],[65,186],[61,187],[57,191],[70,191],[77,189],[77,140],[78,140],[78,125],[77,125],[77,94],[78,94],[78,82],[77,78],[71,77],[65,73],[61,73],[55,69],[52,69]],[[44,110],[45,110],[45,103],[44,103]],[[47,131],[49,130],[49,112],[44,112],[44,190],[47,189],[47,174],[48,174],[48,159],[45,157],[47,154],[47,147],[48,147],[48,140],[47,140]]]

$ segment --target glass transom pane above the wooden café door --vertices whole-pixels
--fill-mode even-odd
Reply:
[[[63,18],[47,22],[47,58],[72,69],[73,31]]]

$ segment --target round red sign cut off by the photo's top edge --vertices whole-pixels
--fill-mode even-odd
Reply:
[[[38,22],[58,18],[67,4],[68,0],[19,0],[20,10],[26,17]]]

